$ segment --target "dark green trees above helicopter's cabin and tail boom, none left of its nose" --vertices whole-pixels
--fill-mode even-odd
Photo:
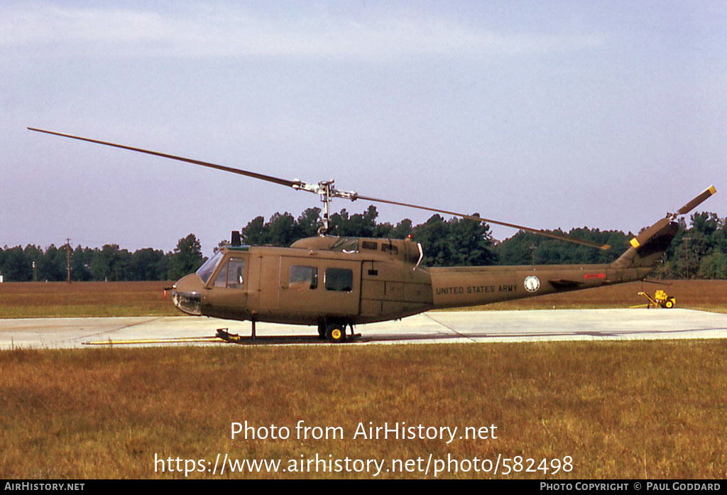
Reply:
[[[289,246],[303,237],[315,236],[321,227],[321,210],[306,209],[299,217],[285,212],[276,213],[265,222],[257,217],[241,231],[244,244]],[[570,265],[611,263],[629,248],[634,233],[597,228],[574,228],[565,234],[584,241],[608,244],[611,249],[595,249],[520,231],[505,241],[492,238],[489,225],[475,220],[451,218],[445,220],[433,215],[420,225],[404,219],[393,225],[377,222],[375,206],[360,214],[345,209],[332,214],[331,231],[334,236],[375,237],[403,239],[411,235],[422,243],[425,266],[475,265]],[[474,216],[479,216],[474,214]],[[654,270],[658,278],[727,278],[726,218],[715,213],[691,215],[689,224],[678,220],[679,229],[665,254],[663,262]]]

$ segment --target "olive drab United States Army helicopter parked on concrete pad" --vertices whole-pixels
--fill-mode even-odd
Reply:
[[[255,323],[263,321],[318,326],[321,338],[343,342],[347,339],[346,327],[353,337],[353,326],[361,323],[395,320],[436,308],[484,305],[643,280],[677,233],[676,218],[691,212],[716,192],[714,186],[707,188],[677,212],[642,230],[631,239],[627,251],[610,264],[425,267],[421,265],[422,244],[411,238],[327,236],[332,199],[406,206],[505,225],[598,249],[610,246],[499,220],[338,190],[333,180],[308,184],[113,142],[28,129],[184,161],[318,194],[324,203],[318,237],[300,239],[288,248],[242,246],[240,234],[233,231],[230,246],[222,247],[196,273],[174,284],[174,305],[184,313],[251,321],[252,337]],[[221,337],[230,340],[229,334]]]

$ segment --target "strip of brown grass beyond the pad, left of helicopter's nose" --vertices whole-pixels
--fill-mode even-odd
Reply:
[[[182,315],[164,299],[172,282],[0,283],[0,318]]]

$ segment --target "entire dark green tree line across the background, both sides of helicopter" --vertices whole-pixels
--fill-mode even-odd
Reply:
[[[475,214],[476,216],[477,214]],[[377,222],[375,206],[352,214],[346,209],[332,214],[333,236],[406,238],[422,243],[425,266],[473,265],[560,265],[610,263],[625,251],[633,233],[620,230],[575,228],[555,232],[609,244],[611,249],[590,248],[532,233],[518,232],[505,241],[492,238],[489,225],[475,220],[444,219],[438,214],[420,225],[404,219],[394,224]],[[679,220],[679,230],[656,267],[657,278],[727,278],[727,219],[715,213],[692,214],[689,222]],[[256,217],[241,230],[243,244],[290,246],[297,239],[316,236],[322,225],[321,209],[309,208],[298,217],[276,213],[270,220]],[[229,244],[220,241],[219,246]],[[0,272],[6,281],[65,281],[68,249],[51,245],[0,249]],[[76,246],[71,250],[73,281],[177,280],[204,262],[196,236],[189,234],[172,252],[151,248],[130,252],[116,244],[101,248]]]

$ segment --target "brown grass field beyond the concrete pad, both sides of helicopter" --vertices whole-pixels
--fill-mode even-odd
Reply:
[[[171,296],[164,299],[166,282],[25,282],[0,283],[0,318],[52,316],[164,316],[182,315]],[[632,282],[585,291],[475,306],[469,310],[585,309],[643,304],[645,291],[653,297],[663,289],[677,298],[677,307],[727,313],[727,281]]]

